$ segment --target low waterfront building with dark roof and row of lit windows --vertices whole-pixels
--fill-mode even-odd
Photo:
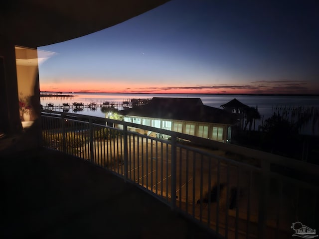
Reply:
[[[232,114],[205,106],[199,98],[154,97],[149,104],[120,111],[124,121],[172,130],[220,142],[231,139]],[[136,131],[134,127],[129,130]],[[151,134],[152,132],[141,132]],[[157,137],[166,137],[156,134]]]

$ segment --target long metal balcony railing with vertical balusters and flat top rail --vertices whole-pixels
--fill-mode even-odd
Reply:
[[[216,237],[290,238],[292,223],[318,225],[317,165],[151,126],[52,111],[42,111],[42,138],[45,147],[123,177]]]

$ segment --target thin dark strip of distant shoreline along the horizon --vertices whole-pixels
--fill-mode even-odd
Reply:
[[[40,97],[73,97],[75,95],[61,95],[61,94],[42,94],[50,92],[40,92]],[[60,92],[59,92],[60,93]],[[61,92],[61,93],[71,93],[71,92]],[[319,97],[319,94],[227,94],[227,93],[136,93],[136,92],[72,92],[76,94],[86,93],[86,94],[136,94],[136,95],[214,95],[214,96],[314,96]]]

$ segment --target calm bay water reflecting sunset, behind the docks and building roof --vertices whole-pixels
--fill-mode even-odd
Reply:
[[[55,94],[55,93],[53,93]],[[319,109],[318,96],[252,96],[252,95],[201,95],[201,94],[115,94],[115,93],[63,93],[71,95],[70,98],[62,97],[41,97],[41,104],[46,106],[47,103],[53,103],[55,106],[62,106],[63,103],[71,105],[73,102],[83,103],[85,105],[95,102],[103,104],[103,102],[118,102],[128,101],[130,99],[152,99],[153,97],[179,97],[179,98],[200,98],[204,105],[215,108],[220,108],[221,105],[236,98],[245,105],[258,107],[258,111],[262,118],[256,120],[255,128],[262,124],[262,121],[273,115],[273,108],[278,107],[316,107]],[[119,109],[122,110],[122,109]],[[72,111],[72,110],[71,110]],[[77,114],[90,115],[96,117],[105,117],[100,108],[96,111],[84,109]],[[311,125],[306,126],[303,130],[306,134],[319,135],[318,125],[313,130]]]

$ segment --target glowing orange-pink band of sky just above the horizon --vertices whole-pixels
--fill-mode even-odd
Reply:
[[[197,86],[160,86],[145,83],[116,83],[83,79],[79,82],[41,83],[40,91],[50,92],[96,92],[96,93],[166,93],[166,94],[319,94],[318,86],[303,81],[255,81],[249,84],[219,84]]]

